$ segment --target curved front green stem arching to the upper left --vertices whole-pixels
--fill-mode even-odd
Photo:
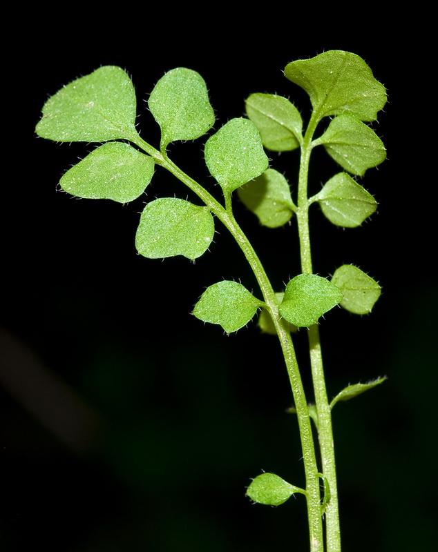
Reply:
[[[319,476],[318,465],[316,463],[315,446],[312,435],[312,426],[310,424],[309,410],[307,408],[307,400],[304,393],[303,383],[301,381],[301,375],[298,369],[298,363],[296,361],[296,355],[294,345],[290,337],[289,330],[284,320],[278,313],[278,302],[271,282],[265,272],[265,268],[258,259],[254,248],[251,246],[245,233],[238,225],[236,219],[231,213],[230,201],[226,201],[226,207],[223,207],[205,188],[200,186],[198,182],[186,175],[185,172],[180,170],[173,161],[171,161],[166,155],[163,155],[158,150],[155,150],[152,146],[144,142],[140,137],[135,137],[133,142],[140,148],[151,155],[157,164],[160,164],[175,177],[188,186],[202,201],[207,205],[211,212],[218,217],[218,219],[225,225],[231,235],[238,243],[238,246],[245,255],[247,262],[254,271],[257,282],[260,286],[260,290],[263,293],[263,299],[267,306],[276,331],[278,339],[280,339],[283,356],[285,358],[285,364],[287,368],[287,374],[289,375],[289,382],[292,388],[292,394],[294,396],[294,402],[296,406],[296,413],[298,417],[298,426],[301,435],[301,446],[303,449],[303,462],[306,477],[306,499],[307,499],[307,517],[309,521],[310,531],[310,551],[311,552],[323,552],[323,524],[321,518],[321,497],[319,490]],[[227,198],[225,198],[227,200]]]

